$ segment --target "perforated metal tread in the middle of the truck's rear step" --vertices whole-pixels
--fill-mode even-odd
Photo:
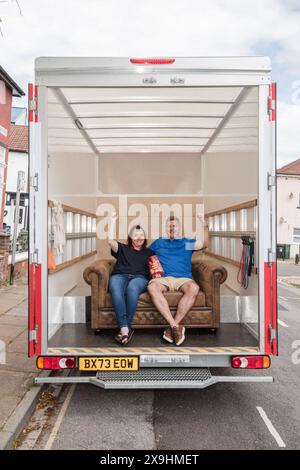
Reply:
[[[207,368],[144,368],[137,372],[98,372],[97,380],[107,382],[205,382],[211,379]]]

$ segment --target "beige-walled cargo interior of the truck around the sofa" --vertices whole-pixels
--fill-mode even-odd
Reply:
[[[94,334],[83,272],[96,259],[111,257],[107,241],[97,236],[106,207],[125,217],[126,206],[128,224],[140,221],[150,242],[153,204],[178,207],[192,227],[203,208],[210,246],[193,259],[226,270],[220,326],[187,328],[186,341],[176,348],[162,342],[161,328],[141,324],[122,353],[258,351],[259,87],[47,86],[41,99],[48,154],[45,230],[55,257],[48,270],[49,352],[120,351],[116,327]],[[57,202],[64,212],[63,247],[54,246]],[[140,206],[147,212],[139,213]],[[162,213],[158,220],[161,231]],[[248,270],[240,264],[243,241],[254,249]]]

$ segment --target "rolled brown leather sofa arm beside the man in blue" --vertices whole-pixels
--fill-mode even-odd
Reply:
[[[219,302],[220,285],[227,279],[227,270],[219,263],[197,258],[192,263],[193,278],[204,292],[207,306]]]

